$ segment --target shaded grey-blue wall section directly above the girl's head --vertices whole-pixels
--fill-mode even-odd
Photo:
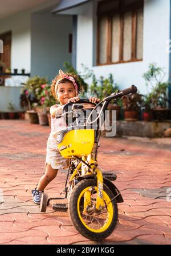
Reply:
[[[72,33],[72,15],[34,13],[31,16],[31,76],[55,77],[63,62],[70,62],[68,38]]]

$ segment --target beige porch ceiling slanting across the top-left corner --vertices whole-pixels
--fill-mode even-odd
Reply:
[[[0,19],[35,7],[47,0],[0,0]]]

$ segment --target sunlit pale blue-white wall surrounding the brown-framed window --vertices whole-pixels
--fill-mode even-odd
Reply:
[[[143,61],[115,65],[93,66],[93,30],[92,3],[86,15],[78,17],[77,69],[82,71],[81,64],[95,71],[97,77],[113,74],[115,81],[123,89],[135,84],[141,93],[146,93],[142,74],[148,69],[149,63],[156,62],[165,67],[166,77],[169,78],[169,54],[166,52],[166,42],[170,30],[170,0],[145,0],[144,5],[144,54]]]

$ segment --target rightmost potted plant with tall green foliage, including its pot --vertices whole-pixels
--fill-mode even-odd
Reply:
[[[148,99],[150,100],[153,118],[157,120],[168,119],[168,88],[170,82],[164,82],[165,72],[156,63],[150,63],[149,69],[143,74],[148,90]]]

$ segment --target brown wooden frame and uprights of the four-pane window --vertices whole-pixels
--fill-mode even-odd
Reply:
[[[115,0],[114,0],[115,1]],[[106,2],[106,1],[105,1]],[[107,2],[113,2],[113,0],[108,0]],[[139,0],[136,5],[128,5],[127,7],[123,7],[124,0],[119,1],[119,8],[115,11],[105,11],[105,13],[100,13],[99,6],[104,3],[101,1],[97,6],[97,43],[96,43],[96,65],[104,66],[104,65],[112,65],[119,63],[129,63],[129,62],[139,62],[143,61],[143,58],[136,58],[137,55],[137,11],[143,10],[144,14],[144,0]],[[123,60],[124,53],[124,14],[128,11],[132,12],[132,39],[131,39],[131,59],[129,61]],[[114,15],[118,15],[120,17],[120,40],[119,40],[119,61],[112,62],[112,18]],[[100,19],[107,18],[107,62],[100,63]],[[144,15],[143,15],[144,17]],[[144,22],[144,19],[143,19]]]

